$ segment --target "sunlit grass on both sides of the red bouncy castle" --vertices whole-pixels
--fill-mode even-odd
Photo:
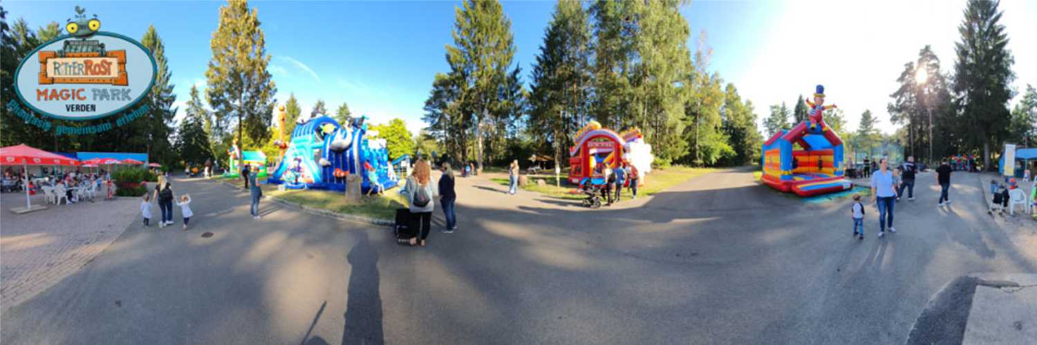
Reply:
[[[695,176],[714,171],[717,171],[714,168],[691,168],[682,166],[672,166],[666,169],[652,169],[651,173],[648,174],[648,182],[638,189],[638,194],[642,196],[652,196],[678,183],[684,182]],[[529,176],[530,183],[523,186],[523,191],[537,192],[559,199],[580,200],[585,197],[583,193],[572,193],[577,188],[566,183],[566,176],[568,175],[562,176],[561,188],[555,186],[554,174],[527,176]],[[543,179],[548,182],[548,184],[544,186],[536,185],[536,182],[533,182],[536,179]],[[508,179],[506,177],[492,178],[491,180],[500,183],[501,185],[508,185]]]

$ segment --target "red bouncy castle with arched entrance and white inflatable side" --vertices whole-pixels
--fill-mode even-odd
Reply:
[[[601,178],[601,167],[617,168],[623,161],[638,168],[642,174],[651,171],[651,145],[646,144],[641,131],[633,128],[617,134],[602,128],[597,121],[590,121],[573,136],[569,148],[569,183],[580,184],[586,177]],[[644,180],[644,179],[641,179]],[[604,180],[595,183],[605,183]],[[598,184],[600,184],[598,183]]]

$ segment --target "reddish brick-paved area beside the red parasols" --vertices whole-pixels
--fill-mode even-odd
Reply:
[[[33,204],[45,204],[43,196]],[[78,271],[139,219],[139,202],[84,201],[49,205],[48,209],[15,214],[25,195],[0,195],[0,310],[7,310]]]

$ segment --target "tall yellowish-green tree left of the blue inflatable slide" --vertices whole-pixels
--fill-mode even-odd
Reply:
[[[235,116],[242,146],[244,134],[254,142],[268,139],[277,92],[267,70],[271,56],[259,24],[258,11],[250,10],[246,0],[229,0],[220,7],[220,24],[211,40],[213,59],[205,71],[205,96],[216,111],[217,132],[227,133],[226,116]]]

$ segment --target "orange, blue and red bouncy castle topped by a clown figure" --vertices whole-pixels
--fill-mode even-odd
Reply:
[[[791,130],[778,131],[763,143],[763,183],[801,197],[846,191],[853,183],[843,177],[843,143],[821,117],[824,87],[817,86],[810,119]],[[798,147],[795,147],[795,145]]]

